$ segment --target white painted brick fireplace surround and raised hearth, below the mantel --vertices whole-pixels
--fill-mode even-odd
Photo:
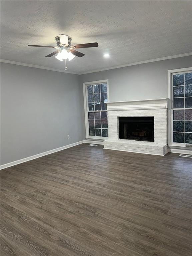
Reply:
[[[120,116],[154,116],[155,142],[119,140]],[[104,141],[104,148],[164,155],[167,152],[167,109],[109,111],[108,132],[109,139]]]

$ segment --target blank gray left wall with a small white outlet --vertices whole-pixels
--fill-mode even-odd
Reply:
[[[1,63],[1,164],[83,140],[83,112],[78,75]]]

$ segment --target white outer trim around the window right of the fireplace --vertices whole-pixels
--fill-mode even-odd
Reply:
[[[173,73],[179,73],[179,72],[188,72],[191,71],[192,67],[190,68],[180,68],[180,69],[172,69],[172,70],[168,70],[168,99],[169,99],[169,103],[168,103],[168,146],[174,146],[174,147],[183,147],[186,148],[186,143],[175,143],[173,142],[173,110],[172,110],[172,74]]]

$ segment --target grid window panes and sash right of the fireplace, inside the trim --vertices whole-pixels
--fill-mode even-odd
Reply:
[[[192,144],[192,70],[172,73],[172,144]]]

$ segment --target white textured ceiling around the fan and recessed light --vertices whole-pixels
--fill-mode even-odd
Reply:
[[[68,62],[82,73],[192,51],[192,1],[1,1],[1,59],[64,70],[45,58],[59,33],[98,42]],[[103,58],[104,53],[110,58]]]

